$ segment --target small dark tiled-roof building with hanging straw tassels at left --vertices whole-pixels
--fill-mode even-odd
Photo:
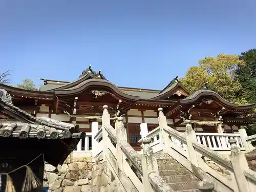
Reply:
[[[30,92],[30,96],[33,94]],[[24,191],[25,187],[26,191],[41,192],[45,161],[54,166],[62,164],[86,136],[80,132],[79,125],[36,117],[31,111],[34,109],[31,100],[35,99],[19,100],[0,89],[1,192],[9,191],[6,187],[10,187],[10,183],[15,191]],[[28,178],[25,182],[26,175],[31,172],[37,178],[36,188],[30,186]]]

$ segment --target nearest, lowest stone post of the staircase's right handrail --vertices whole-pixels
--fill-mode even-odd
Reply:
[[[249,169],[248,163],[240,147],[237,146],[236,139],[228,141],[231,145],[230,160],[234,170],[234,177],[236,178],[239,192],[250,192],[248,181],[244,175],[244,170]]]

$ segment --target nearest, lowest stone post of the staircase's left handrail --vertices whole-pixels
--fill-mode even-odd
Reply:
[[[141,163],[144,191],[152,192],[153,188],[148,176],[153,172],[158,173],[157,160],[154,157],[153,149],[150,146],[151,139],[144,137],[141,139],[141,142],[143,144]]]

